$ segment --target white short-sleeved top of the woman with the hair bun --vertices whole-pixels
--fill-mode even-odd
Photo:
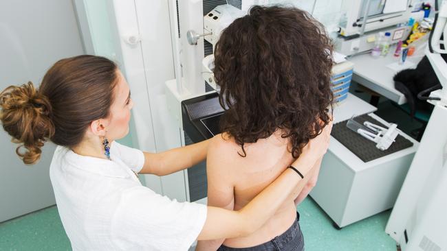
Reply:
[[[57,147],[50,178],[73,250],[188,250],[206,206],[177,202],[142,186],[144,154],[119,143],[111,160]]]

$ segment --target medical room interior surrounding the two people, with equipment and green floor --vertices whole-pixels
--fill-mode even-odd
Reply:
[[[447,1],[0,1],[0,89],[40,83],[61,58],[104,56],[135,104],[118,142],[163,152],[204,141],[224,112],[214,46],[252,5],[305,10],[334,44],[331,142],[298,204],[305,250],[447,250]],[[43,148],[24,165],[0,132],[0,250],[72,249],[50,183],[56,145]],[[179,202],[207,202],[204,162],[139,178]]]

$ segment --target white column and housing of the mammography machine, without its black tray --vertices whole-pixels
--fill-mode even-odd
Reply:
[[[179,65],[181,66],[182,78],[181,81],[178,81],[178,75],[176,75],[177,78],[175,80],[167,80],[164,84],[164,93],[166,93],[167,110],[175,120],[180,141],[182,145],[186,145],[186,135],[183,130],[182,121],[182,101],[199,97],[206,93],[215,92],[215,90],[206,90],[204,80],[206,80],[206,82],[208,82],[214,89],[217,88],[214,83],[214,78],[211,77],[212,69],[204,67],[204,63],[202,62],[208,59],[210,60],[210,64],[207,64],[207,67],[213,67],[212,62],[214,61],[214,58],[212,57],[212,54],[204,57],[204,40],[207,40],[214,47],[217,40],[219,40],[221,31],[228,27],[232,21],[243,16],[245,12],[242,12],[232,5],[218,5],[204,15],[204,0],[179,1],[178,9],[173,10],[172,13],[176,12],[179,13],[179,40],[181,41],[181,48],[177,51],[179,54],[177,58],[181,60],[181,63],[175,64],[175,67],[178,68]],[[217,19],[214,19],[215,17],[217,17]],[[197,45],[190,45],[186,41],[185,34],[191,29],[199,34]],[[175,29],[171,29],[171,31],[173,39],[178,39]],[[212,34],[205,35],[209,33]],[[201,38],[201,36],[203,36],[203,38]],[[178,88],[178,82],[182,83],[183,88]],[[181,175],[184,177],[184,180],[177,180],[177,182],[170,182],[169,184],[166,182],[167,185],[164,190],[171,192],[165,194],[169,195],[171,198],[177,198],[177,200],[191,201],[188,170],[179,171],[179,173],[182,173]],[[177,196],[178,194],[184,194],[185,197]],[[196,202],[206,204],[206,198],[197,200]]]

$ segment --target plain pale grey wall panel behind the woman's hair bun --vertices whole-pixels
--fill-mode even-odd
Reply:
[[[83,54],[70,0],[0,1],[0,89],[39,84],[54,62]],[[39,164],[25,166],[17,145],[0,130],[0,222],[55,204],[48,169],[54,145]]]

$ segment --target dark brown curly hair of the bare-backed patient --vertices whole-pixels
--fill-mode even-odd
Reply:
[[[333,45],[321,23],[297,8],[254,6],[223,30],[215,80],[226,108],[221,131],[241,145],[275,130],[294,158],[331,120]]]

